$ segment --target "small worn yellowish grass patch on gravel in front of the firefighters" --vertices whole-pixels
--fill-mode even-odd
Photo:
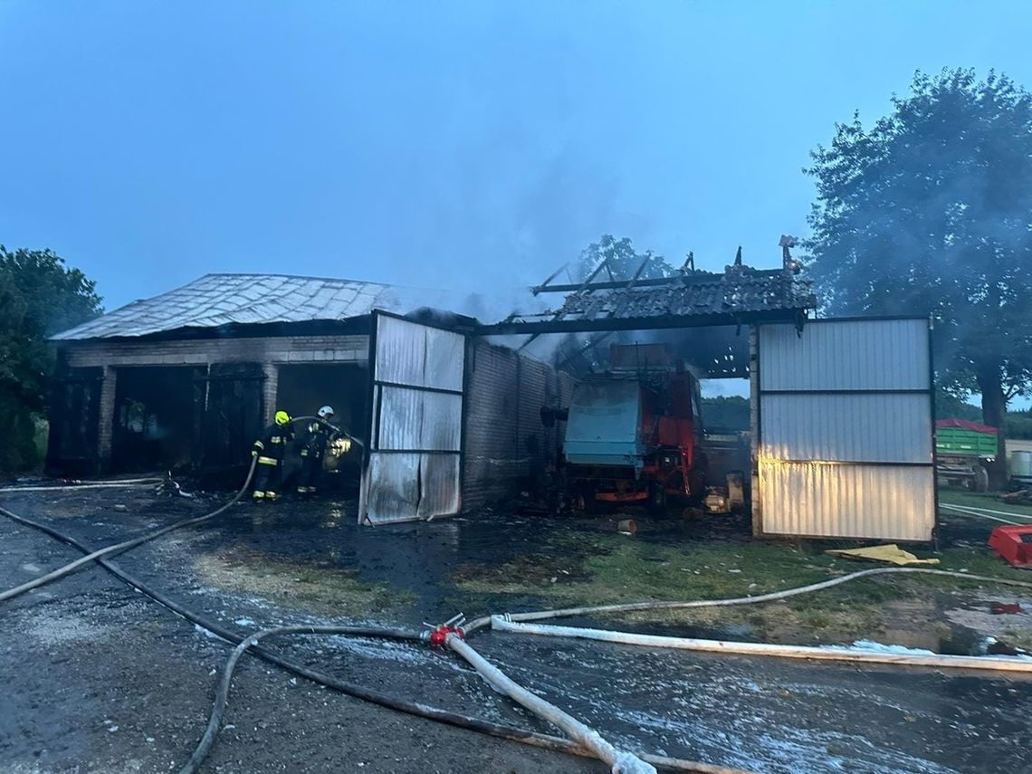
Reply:
[[[410,606],[416,594],[358,580],[354,571],[229,552],[194,559],[205,584],[264,596],[281,605],[301,605],[319,613],[364,616]]]

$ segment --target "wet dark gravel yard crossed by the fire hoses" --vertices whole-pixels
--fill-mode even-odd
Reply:
[[[218,502],[156,499],[134,490],[6,495],[0,505],[102,546]],[[126,512],[116,512],[115,504]],[[243,505],[118,561],[241,633],[330,620],[415,624],[460,608],[471,616],[486,612],[464,609],[483,598],[463,594],[458,568],[469,574],[530,557],[525,567],[534,572],[554,566],[557,546],[571,550],[590,543],[592,530],[612,530],[605,519],[489,513],[376,528],[354,521],[346,502]],[[660,547],[705,538],[735,546],[736,534],[733,522],[714,529],[675,521],[643,525],[635,540]],[[0,587],[76,556],[0,519]],[[576,574],[576,562],[570,567]],[[508,609],[544,602],[533,593],[506,596]],[[906,615],[904,607],[899,617]],[[893,644],[957,652],[981,647],[976,630],[945,625],[935,642]],[[637,628],[664,626],[686,633],[654,621]],[[749,639],[755,633],[746,626],[733,634]],[[779,774],[1032,766],[1032,680],[1021,677],[718,657],[489,632],[471,642],[514,679],[631,749]],[[547,731],[447,653],[344,638],[276,647],[381,690]],[[0,683],[7,686],[0,771],[174,770],[206,721],[213,670],[227,653],[222,641],[96,568],[7,603],[0,608]],[[254,659],[245,659],[234,680],[226,723],[208,771],[605,770],[383,710]]]

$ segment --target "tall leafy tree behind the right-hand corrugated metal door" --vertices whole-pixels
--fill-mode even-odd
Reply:
[[[934,317],[938,381],[979,392],[1001,430],[999,484],[1007,404],[1032,378],[1032,96],[954,69],[892,104],[812,153],[806,261],[835,312]]]

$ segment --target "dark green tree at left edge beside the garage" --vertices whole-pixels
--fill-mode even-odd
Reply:
[[[46,408],[46,337],[101,312],[94,283],[49,250],[0,245],[0,471],[37,462],[35,418]]]

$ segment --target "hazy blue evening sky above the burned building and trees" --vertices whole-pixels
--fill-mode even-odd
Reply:
[[[1032,88],[1023,2],[0,0],[0,244],[107,309],[212,271],[488,293],[603,233],[778,264],[914,70]]]

